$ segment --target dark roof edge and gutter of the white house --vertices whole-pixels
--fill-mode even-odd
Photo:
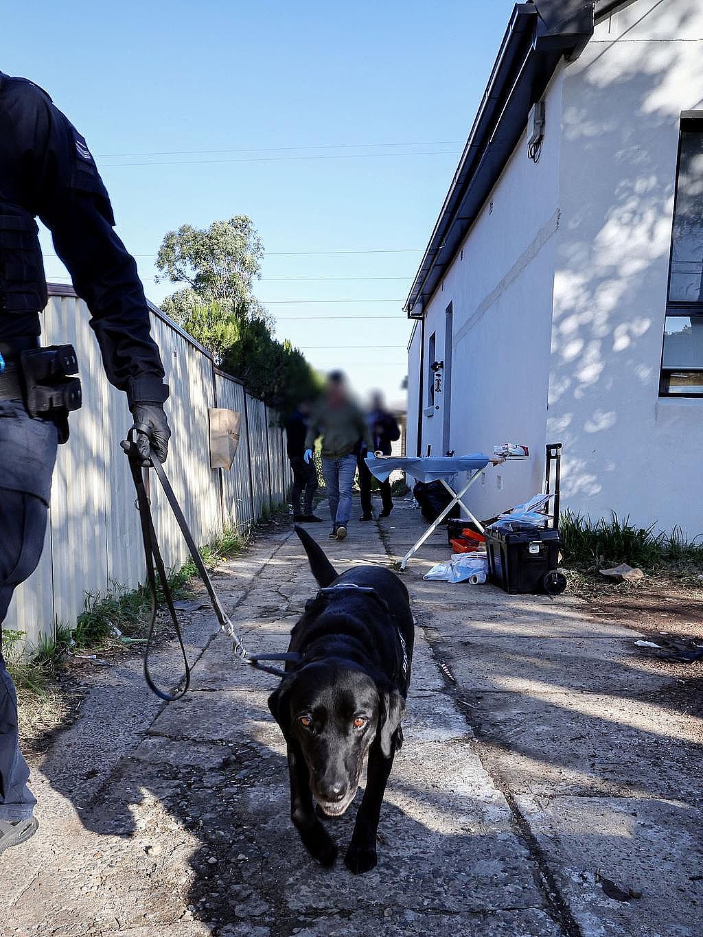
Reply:
[[[409,318],[423,315],[561,59],[574,61],[593,35],[596,19],[633,2],[530,0],[513,8],[469,140],[412,282],[405,303]]]

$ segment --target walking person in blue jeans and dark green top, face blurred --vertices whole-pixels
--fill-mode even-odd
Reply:
[[[305,461],[312,460],[315,440],[322,436],[322,476],[327,485],[332,531],[330,538],[344,540],[352,515],[352,485],[356,472],[356,446],[371,437],[362,410],[356,406],[341,371],[333,371],[320,401],[310,413]]]

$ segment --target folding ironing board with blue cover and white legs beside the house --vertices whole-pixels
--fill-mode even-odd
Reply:
[[[411,458],[409,456],[395,455],[367,455],[366,465],[372,475],[375,475],[380,482],[384,482],[396,468],[411,475],[417,482],[441,482],[451,496],[451,501],[441,512],[439,517],[434,520],[425,533],[420,537],[417,543],[414,543],[410,550],[403,557],[400,563],[400,569],[404,570],[406,563],[411,556],[420,549],[425,543],[427,537],[439,527],[446,515],[452,510],[455,504],[458,504],[471,518],[476,527],[483,533],[484,528],[481,522],[473,516],[469,508],[464,504],[461,498],[466,495],[471,485],[476,482],[481,472],[488,464],[497,466],[505,461],[504,455],[484,455],[483,453],[471,453],[471,455],[426,455]],[[469,481],[460,491],[452,487],[453,479],[459,472],[467,472]]]

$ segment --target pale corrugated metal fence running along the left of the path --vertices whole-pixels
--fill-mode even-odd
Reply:
[[[144,578],[134,487],[120,440],[131,424],[126,395],[105,377],[86,306],[72,290],[50,285],[43,341],[75,346],[83,406],[71,418],[70,439],[59,446],[44,553],[37,571],[15,593],[5,628],[25,632],[30,645],[73,624],[86,593],[136,587]],[[285,501],[291,481],[285,434],[276,414],[218,370],[210,354],[152,306],[152,329],[171,388],[167,412],[172,439],[166,469],[196,543],[223,526],[247,526]],[[210,468],[208,409],[242,414],[232,469]],[[156,479],[152,509],[165,561],[187,558],[183,538]]]

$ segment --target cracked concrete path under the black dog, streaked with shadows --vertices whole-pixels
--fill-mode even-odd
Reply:
[[[341,571],[387,565],[422,527],[401,502],[341,544],[311,530]],[[667,706],[633,632],[578,602],[424,581],[443,537],[404,573],[418,630],[376,870],[309,859],[266,707],[276,678],[233,664],[202,615],[185,699],[160,706],[127,667],[47,752],[40,834],[0,859],[2,937],[697,937],[693,720]],[[217,587],[252,650],[285,649],[316,588],[292,532]],[[342,852],[352,822],[330,825]],[[598,868],[642,897],[608,898]]]

